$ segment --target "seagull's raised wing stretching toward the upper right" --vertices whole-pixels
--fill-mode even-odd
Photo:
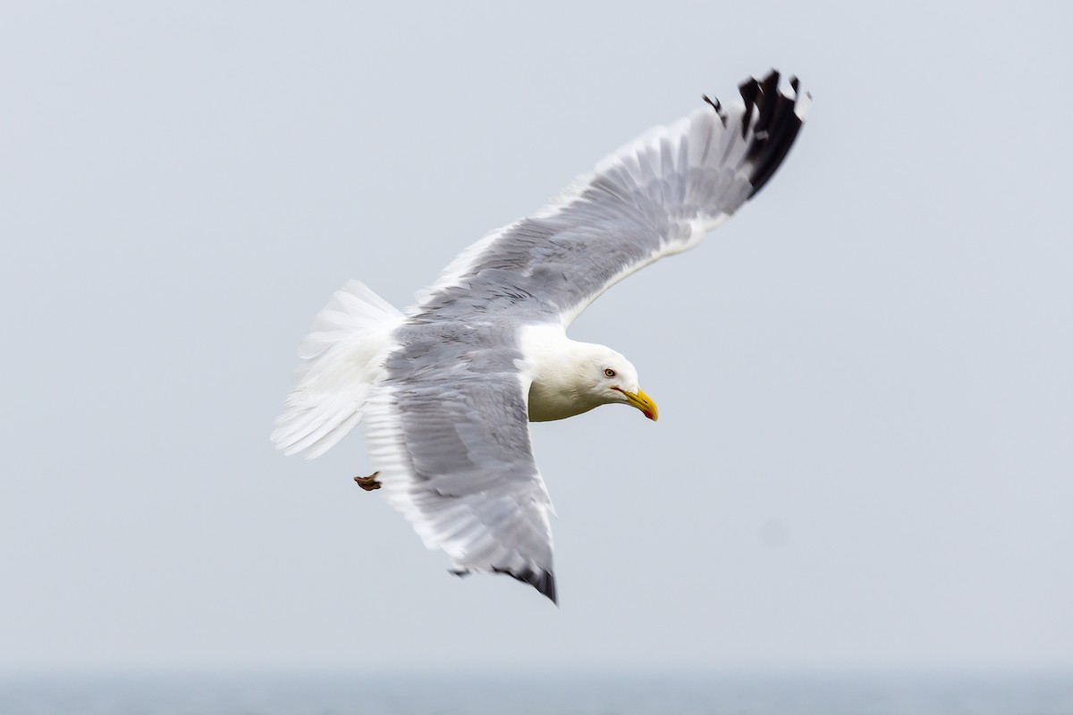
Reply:
[[[604,159],[553,205],[464,251],[414,316],[510,311],[569,325],[601,293],[695,245],[754,196],[790,150],[808,108],[795,78],[745,81],[740,102],[658,126]]]

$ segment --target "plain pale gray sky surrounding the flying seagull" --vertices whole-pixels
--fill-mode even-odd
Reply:
[[[1071,5],[458,8],[2,5],[0,671],[1073,669]],[[273,449],[347,279],[773,65],[783,168],[572,328],[661,419],[534,426],[560,609]]]

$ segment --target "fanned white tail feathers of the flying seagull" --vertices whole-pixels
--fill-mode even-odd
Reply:
[[[277,449],[284,455],[305,450],[306,459],[313,459],[357,426],[394,348],[392,331],[402,319],[402,313],[357,281],[332,296],[298,346],[303,363],[271,433]]]

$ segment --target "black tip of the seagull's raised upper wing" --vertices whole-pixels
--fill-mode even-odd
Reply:
[[[749,165],[752,198],[775,175],[805,122],[811,94],[800,91],[800,80],[788,78],[790,92],[780,89],[782,75],[773,69],[762,79],[749,77],[738,85],[745,101],[741,138],[749,143],[745,161]],[[755,115],[755,118],[753,118]]]

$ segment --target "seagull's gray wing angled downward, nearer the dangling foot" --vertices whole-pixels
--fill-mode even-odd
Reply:
[[[457,574],[497,571],[556,600],[550,500],[529,442],[515,327],[409,323],[366,405],[381,493]]]

